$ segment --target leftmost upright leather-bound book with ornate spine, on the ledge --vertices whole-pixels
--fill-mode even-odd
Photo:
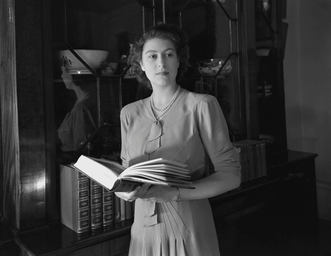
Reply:
[[[67,165],[60,165],[61,223],[76,233],[90,230],[89,178]]]

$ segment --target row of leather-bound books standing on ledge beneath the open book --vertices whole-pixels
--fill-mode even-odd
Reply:
[[[69,165],[60,166],[60,184],[61,223],[78,234],[113,228],[134,216],[134,202]]]

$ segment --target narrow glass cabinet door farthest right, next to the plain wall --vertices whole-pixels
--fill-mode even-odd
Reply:
[[[266,149],[287,148],[280,1],[255,1],[259,138]]]

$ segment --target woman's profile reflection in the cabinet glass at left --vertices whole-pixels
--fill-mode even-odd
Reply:
[[[70,162],[98,124],[96,95],[91,81],[76,78],[75,75],[66,72],[64,68],[62,68],[61,78],[66,86],[66,90],[63,91],[64,100],[67,103],[71,101],[72,107],[56,127],[58,163]],[[95,83],[92,82],[92,85]],[[65,97],[66,95],[68,97]],[[61,102],[57,102],[57,104],[59,103]],[[61,110],[65,111],[65,109]]]

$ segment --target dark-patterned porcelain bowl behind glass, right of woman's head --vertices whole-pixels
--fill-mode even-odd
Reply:
[[[202,75],[214,76],[220,67],[223,65],[225,59],[207,59],[196,62],[196,67]],[[231,61],[228,60],[223,66],[222,70],[218,75],[226,75],[232,70]]]

